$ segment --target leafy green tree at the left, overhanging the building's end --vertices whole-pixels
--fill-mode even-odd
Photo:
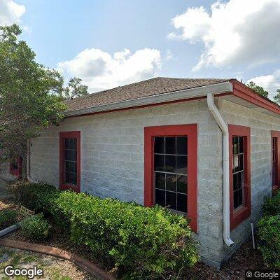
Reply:
[[[0,27],[0,161],[27,155],[27,140],[57,125],[63,78],[35,60],[18,25]]]

